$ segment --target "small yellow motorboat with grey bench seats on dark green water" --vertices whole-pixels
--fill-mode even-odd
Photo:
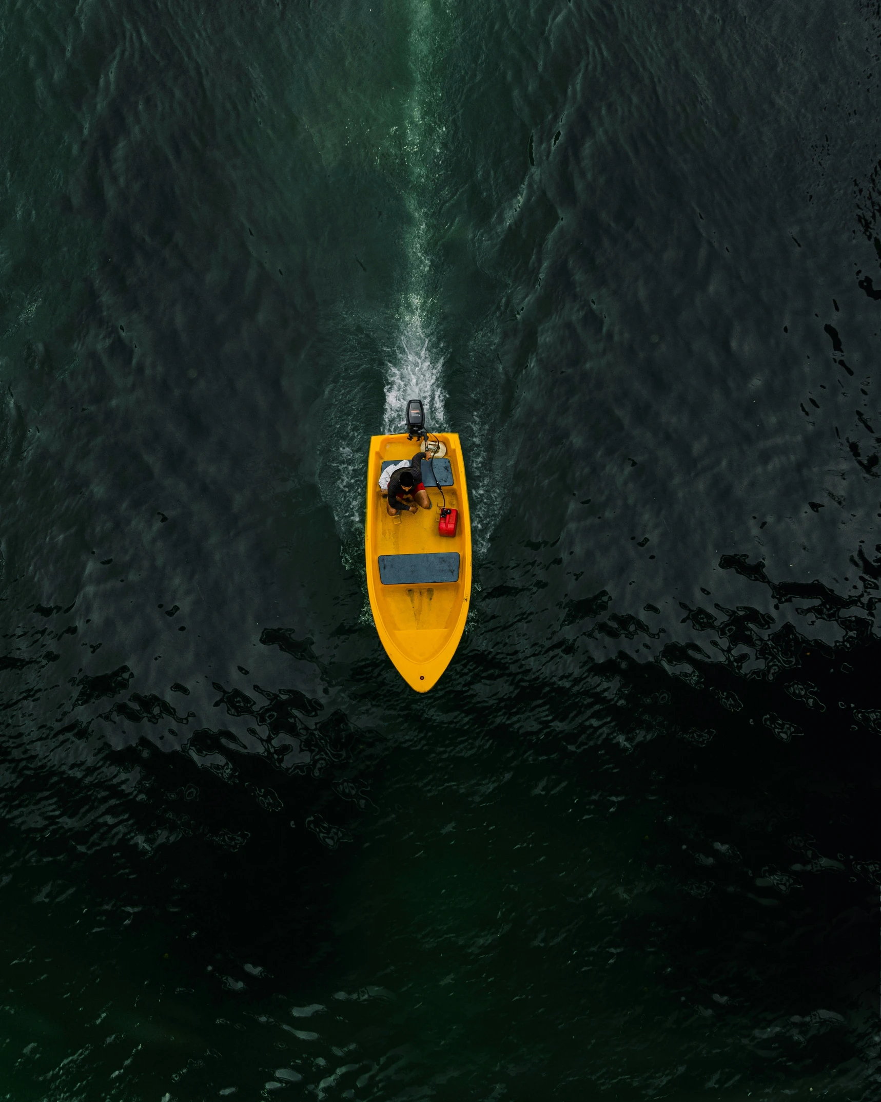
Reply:
[[[431,509],[390,517],[379,488],[383,465],[410,460],[422,446],[406,433],[372,436],[367,468],[367,590],[373,623],[395,669],[416,692],[427,692],[459,645],[471,598],[471,526],[461,445],[455,432],[432,433],[443,458],[423,461]],[[431,473],[434,468],[434,475]],[[436,480],[435,480],[436,478]],[[438,533],[443,486],[458,509],[453,537]]]

